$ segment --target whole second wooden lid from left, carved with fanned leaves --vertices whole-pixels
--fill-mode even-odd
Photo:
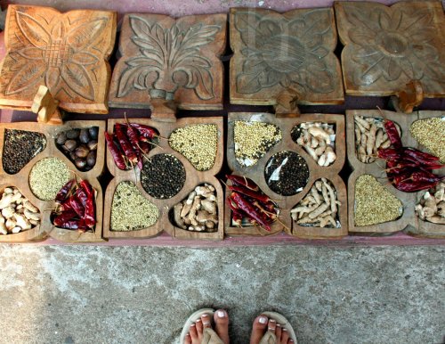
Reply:
[[[126,14],[122,55],[109,90],[114,107],[149,108],[150,97],[182,109],[223,109],[226,15],[174,20],[158,14]]]

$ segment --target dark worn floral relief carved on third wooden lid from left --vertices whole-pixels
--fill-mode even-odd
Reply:
[[[236,76],[239,94],[264,88],[292,87],[299,94],[328,94],[336,87],[336,70],[329,69],[332,36],[329,12],[313,10],[288,18],[237,11],[234,28],[242,42],[242,70]],[[334,57],[335,59],[335,57]]]

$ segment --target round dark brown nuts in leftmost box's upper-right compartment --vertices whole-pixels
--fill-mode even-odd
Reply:
[[[96,164],[99,127],[70,129],[59,133],[57,147],[81,171],[89,171]]]

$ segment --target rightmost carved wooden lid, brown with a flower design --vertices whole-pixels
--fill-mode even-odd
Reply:
[[[335,4],[347,94],[390,95],[420,80],[425,96],[445,95],[441,2]]]

